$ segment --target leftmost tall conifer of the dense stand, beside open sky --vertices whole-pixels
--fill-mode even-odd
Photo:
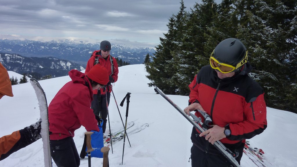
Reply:
[[[153,62],[146,66],[149,73],[146,77],[152,82],[149,86],[158,86],[164,93],[176,94],[178,86],[173,82],[172,77],[177,72],[178,64],[173,59],[175,51],[181,45],[181,39],[185,32],[187,12],[184,1],[180,2],[181,7],[177,15],[172,15],[167,24],[168,33],[165,38],[160,38],[160,45],[156,47]]]

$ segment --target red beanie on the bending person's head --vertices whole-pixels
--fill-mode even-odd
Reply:
[[[99,64],[96,64],[91,68],[89,73],[87,73],[87,77],[100,85],[106,85],[109,82],[107,69]]]

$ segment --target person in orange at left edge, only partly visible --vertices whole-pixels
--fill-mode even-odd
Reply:
[[[13,97],[12,86],[6,68],[0,63],[0,99],[3,96]],[[21,130],[12,132],[10,135],[0,138],[0,161],[12,153],[34,143],[41,138],[41,119],[36,123]]]

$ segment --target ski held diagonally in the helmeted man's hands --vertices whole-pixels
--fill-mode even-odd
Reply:
[[[157,86],[155,86],[155,91],[158,92],[162,97],[165,98],[181,115],[183,115],[196,129],[198,129],[201,133],[204,132],[205,130],[200,127],[193,119],[191,119],[184,111],[178,107],[175,103],[173,103],[172,100],[169,99]],[[224,157],[226,157],[234,166],[240,167],[238,162],[235,160],[236,154],[231,152],[228,148],[226,148],[220,141],[214,142],[214,146],[216,147],[219,152],[222,153]]]

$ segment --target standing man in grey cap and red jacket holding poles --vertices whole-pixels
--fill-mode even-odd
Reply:
[[[111,44],[108,41],[102,41],[100,43],[100,50],[94,51],[91,58],[89,59],[86,67],[85,74],[88,75],[89,71],[95,64],[99,64],[107,69],[109,75],[109,82],[106,87],[95,89],[94,100],[92,101],[92,109],[95,115],[99,115],[103,119],[102,130],[105,133],[106,122],[107,122],[107,106],[110,101],[110,92],[112,91],[111,83],[118,80],[118,63],[116,59],[110,55]],[[107,104],[106,104],[107,97]]]

